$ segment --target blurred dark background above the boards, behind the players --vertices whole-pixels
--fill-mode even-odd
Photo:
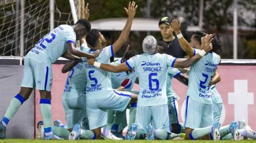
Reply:
[[[26,55],[29,49],[50,30],[49,0],[26,0],[24,2],[24,37],[22,40],[24,43],[21,43],[22,1],[2,0],[0,2],[0,55],[2,56],[21,55],[21,44],[24,45],[22,53]],[[56,0],[53,2],[54,27],[60,24],[72,25],[73,18],[69,1]],[[86,0],[84,2],[89,3],[89,20],[95,23],[100,22],[99,19],[104,21],[105,18],[126,18],[123,7],[127,6],[129,1]],[[256,0],[137,0],[135,2],[138,5],[136,18],[150,18],[155,23],[164,16],[179,19],[183,25],[183,35],[188,41],[195,30],[216,33],[223,45],[219,51],[222,58],[256,58]],[[75,5],[77,6],[76,1]],[[108,20],[111,21],[111,19]],[[148,22],[140,22],[142,25],[149,25]],[[234,25],[237,29],[237,34],[235,31],[237,37],[234,37]],[[104,30],[104,27],[109,26],[111,26],[109,23],[103,25],[102,33],[111,44],[118,38],[121,31],[117,29]],[[117,57],[122,57],[127,44],[130,44],[130,49],[142,53],[141,43],[146,35],[151,34],[157,39],[161,37],[157,27],[158,23],[154,30],[131,31],[129,41],[123,50],[117,53]],[[237,57],[233,54],[236,45]]]

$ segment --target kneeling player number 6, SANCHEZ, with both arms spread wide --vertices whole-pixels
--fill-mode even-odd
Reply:
[[[132,130],[129,136],[153,140],[154,137],[165,140],[169,137],[170,125],[168,116],[168,105],[166,97],[166,76],[168,67],[189,67],[199,61],[211,48],[211,37],[207,35],[203,38],[203,49],[192,58],[177,59],[167,54],[157,53],[157,41],[152,35],[146,37],[142,43],[143,54],[130,58],[125,63],[117,66],[99,63],[95,59],[88,59],[90,65],[99,67],[109,72],[123,72],[135,69],[139,78],[139,96],[135,123],[131,125]],[[156,124],[156,129],[149,125],[152,121]],[[134,134],[136,128],[138,131]]]

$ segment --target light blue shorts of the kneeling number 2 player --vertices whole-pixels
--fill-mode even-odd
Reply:
[[[211,126],[212,105],[193,101],[189,96],[186,98],[185,128],[197,129]]]

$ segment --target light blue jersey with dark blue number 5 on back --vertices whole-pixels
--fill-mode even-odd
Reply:
[[[90,50],[90,53],[92,52],[94,50]],[[110,64],[110,57],[113,55],[113,46],[110,45],[104,47],[99,56],[95,58],[95,61]],[[97,99],[111,95],[113,88],[111,86],[110,72],[86,63],[86,75],[88,77],[86,86],[87,99]]]

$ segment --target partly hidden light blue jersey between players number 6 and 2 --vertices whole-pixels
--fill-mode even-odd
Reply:
[[[167,81],[166,81],[166,93],[167,97],[177,97],[176,93],[173,91],[172,88],[172,78],[179,76],[180,75],[180,70],[173,68],[173,67],[168,67],[168,74],[167,74]]]

